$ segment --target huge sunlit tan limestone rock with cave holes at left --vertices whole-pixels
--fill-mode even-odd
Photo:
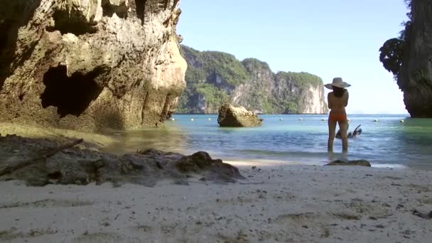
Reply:
[[[158,126],[185,88],[179,0],[0,1],[0,121]]]

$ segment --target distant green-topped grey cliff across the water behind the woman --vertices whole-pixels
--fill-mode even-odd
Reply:
[[[240,62],[233,55],[199,52],[182,46],[188,62],[188,87],[180,97],[179,113],[217,113],[229,102],[257,113],[328,112],[320,77],[306,72],[274,74],[254,58]]]

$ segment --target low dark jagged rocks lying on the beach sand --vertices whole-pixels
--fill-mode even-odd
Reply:
[[[183,156],[147,149],[117,156],[20,136],[0,136],[0,143],[0,180],[23,180],[28,185],[109,182],[152,187],[166,179],[188,185],[188,179],[194,176],[215,183],[244,179],[237,168],[205,152]]]

